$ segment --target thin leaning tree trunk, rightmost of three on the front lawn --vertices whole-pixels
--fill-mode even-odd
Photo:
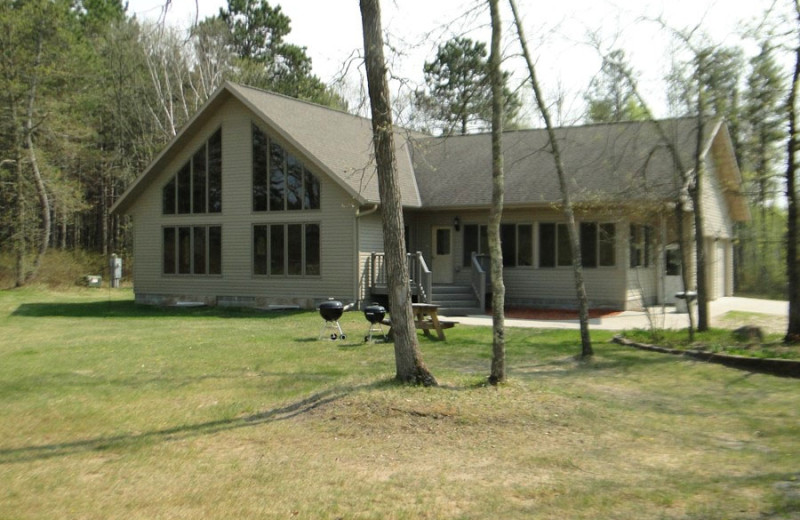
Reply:
[[[558,141],[556,140],[555,131],[550,120],[550,113],[547,110],[547,105],[544,102],[544,96],[539,88],[539,81],[536,78],[536,69],[533,66],[530,52],[528,51],[528,43],[525,40],[525,35],[522,30],[522,23],[520,22],[517,13],[517,5],[515,0],[509,0],[511,4],[511,11],[514,15],[514,24],[517,27],[517,34],[519,35],[519,42],[522,46],[522,54],[528,65],[528,74],[533,87],[533,93],[536,97],[536,104],[539,106],[539,112],[542,114],[545,126],[547,127],[547,135],[550,140],[550,149],[553,153],[553,160],[556,165],[556,172],[558,173],[558,183],[561,187],[562,204],[564,205],[564,217],[567,219],[567,229],[569,231],[570,248],[572,249],[572,267],[575,273],[575,292],[578,298],[578,317],[580,319],[581,327],[581,357],[587,358],[594,355],[592,349],[592,340],[589,335],[589,299],[586,296],[586,286],[583,282],[583,264],[581,262],[581,246],[580,236],[578,234],[577,226],[575,225],[575,213],[572,209],[572,200],[570,199],[569,186],[567,185],[566,173],[564,172],[564,164],[561,160],[561,151]]]

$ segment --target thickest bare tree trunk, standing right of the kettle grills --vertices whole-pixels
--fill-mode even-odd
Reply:
[[[389,305],[394,334],[396,378],[404,383],[434,386],[438,383],[422,361],[411,309],[411,289],[406,263],[403,206],[397,183],[394,130],[383,56],[379,0],[360,0],[364,32],[364,61],[372,107],[372,135],[381,198],[383,244],[389,285]]]

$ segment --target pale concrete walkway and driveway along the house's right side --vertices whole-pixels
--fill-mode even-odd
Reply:
[[[758,313],[763,316],[748,317],[741,320],[737,317],[726,317],[731,311]],[[696,316],[695,310],[695,316]],[[759,300],[731,296],[719,298],[709,304],[711,325],[725,328],[736,328],[741,325],[757,325],[768,332],[781,332],[786,329],[789,315],[789,303],[776,300]],[[650,317],[648,318],[648,314]],[[651,327],[650,320],[658,328],[682,329],[689,326],[688,314],[675,312],[675,307],[651,307],[649,313],[643,311],[625,311],[616,316],[589,320],[589,326],[597,330],[646,329]],[[491,326],[491,316],[465,316],[454,321],[464,325]],[[520,320],[506,319],[506,327],[531,327],[542,329],[577,329],[578,320]]]

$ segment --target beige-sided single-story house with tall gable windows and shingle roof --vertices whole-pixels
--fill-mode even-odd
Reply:
[[[693,165],[695,123],[662,122]],[[416,298],[451,312],[485,301],[490,136],[396,130]],[[676,253],[672,155],[651,122],[557,130],[593,307],[670,302]],[[385,292],[368,119],[226,83],[117,201],[133,217],[137,302],[297,305]],[[501,229],[509,305],[574,306],[566,226],[543,130],[504,135]],[[725,125],[708,125],[703,178],[711,298],[732,294],[734,223],[749,218]],[[683,216],[691,230],[691,213]],[[688,256],[688,255],[687,255]]]

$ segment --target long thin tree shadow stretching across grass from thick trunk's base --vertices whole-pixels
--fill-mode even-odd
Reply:
[[[22,446],[17,448],[0,449],[0,465],[46,460],[55,457],[65,457],[93,451],[124,449],[137,445],[150,445],[163,442],[181,441],[203,435],[249,428],[285,421],[306,414],[320,406],[336,402],[348,395],[369,389],[383,388],[394,384],[392,381],[376,381],[363,385],[336,387],[312,394],[305,399],[300,399],[285,406],[273,408],[263,412],[208,421],[197,424],[187,424],[173,428],[164,428],[143,433],[123,433],[119,435],[99,436],[92,439],[83,439],[72,442],[41,444],[35,446]]]

